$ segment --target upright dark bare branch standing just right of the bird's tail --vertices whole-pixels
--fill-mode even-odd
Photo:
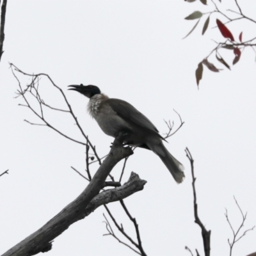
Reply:
[[[202,230],[202,237],[203,237],[203,241],[204,241],[204,253],[205,256],[210,256],[210,252],[211,252],[211,230],[207,231],[206,228],[204,227],[202,221],[200,220],[199,216],[198,216],[198,205],[196,202],[196,187],[195,187],[195,175],[194,175],[194,159],[191,156],[191,153],[189,152],[189,149],[186,148],[185,150],[186,152],[186,156],[189,159],[189,162],[191,164],[191,173],[192,173],[192,188],[193,188],[193,196],[194,196],[194,215],[195,215],[195,223],[199,225],[199,227]],[[198,252],[196,252],[198,253]]]

